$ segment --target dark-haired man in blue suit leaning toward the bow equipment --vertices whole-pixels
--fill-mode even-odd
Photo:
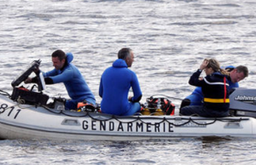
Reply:
[[[94,95],[84,80],[79,69],[71,63],[73,54],[65,54],[62,50],[55,50],[51,54],[52,63],[55,67],[52,71],[43,73],[46,84],[64,83],[67,93],[72,100],[66,100],[66,110],[76,110],[79,102],[86,100],[92,105],[96,105]],[[37,74],[39,68],[35,71]],[[28,77],[24,83],[37,83],[37,77]]]

